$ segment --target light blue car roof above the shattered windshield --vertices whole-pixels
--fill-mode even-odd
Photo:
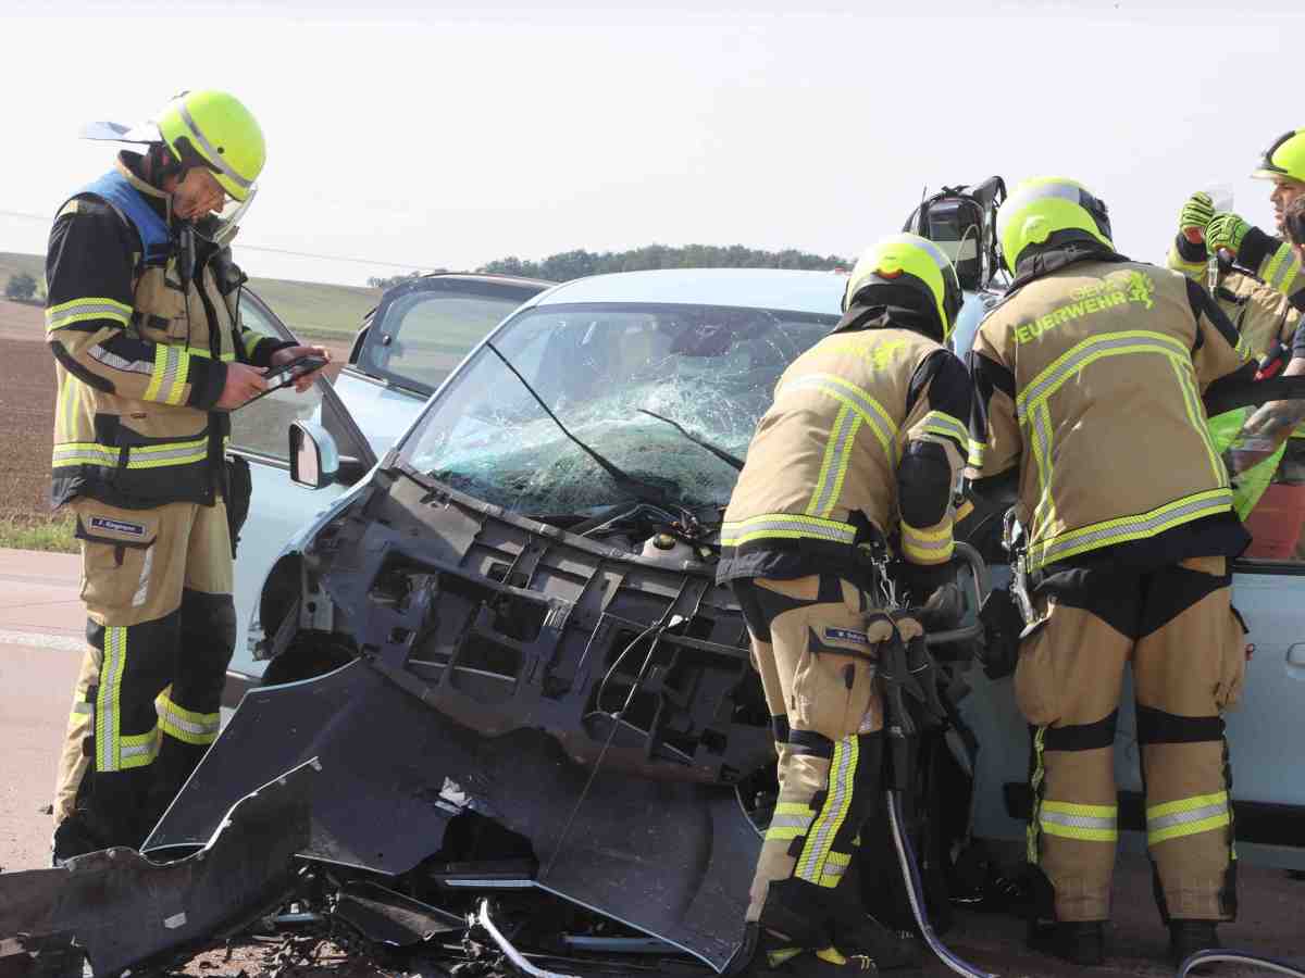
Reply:
[[[673,303],[838,316],[847,278],[788,269],[662,269],[565,282],[527,305]]]

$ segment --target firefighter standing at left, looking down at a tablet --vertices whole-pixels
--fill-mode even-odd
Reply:
[[[154,124],[99,126],[144,153],[60,207],[46,265],[51,501],[76,515],[87,613],[56,865],[138,846],[215,739],[235,640],[228,503],[248,502],[227,477],[226,412],[266,389],[265,368],[329,359],[239,319],[244,275],[226,243],[264,164],[249,111],[192,91]]]

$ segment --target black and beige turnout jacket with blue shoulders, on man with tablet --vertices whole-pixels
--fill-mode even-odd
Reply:
[[[196,239],[176,246],[168,197],[134,154],[74,194],[46,258],[46,340],[57,379],[51,503],[85,496],[127,509],[211,506],[230,417],[213,409],[227,364],[268,366],[290,343],[239,319],[244,274]]]

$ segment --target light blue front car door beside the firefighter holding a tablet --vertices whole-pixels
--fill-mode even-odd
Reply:
[[[249,289],[240,299],[240,318],[248,329],[296,339]],[[290,481],[288,432],[296,420],[316,421],[330,432],[341,455],[339,481],[318,490]],[[257,635],[258,629],[251,626],[257,622],[258,597],[273,562],[300,527],[376,464],[376,455],[325,378],[304,394],[287,387],[232,412],[227,454],[245,459],[253,477],[249,518],[236,552],[236,647],[231,670],[258,675],[264,664],[254,661],[251,643],[251,634]]]

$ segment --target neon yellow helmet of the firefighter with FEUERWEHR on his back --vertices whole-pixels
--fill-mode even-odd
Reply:
[[[1024,249],[1062,232],[1070,232],[1064,235],[1066,240],[1091,239],[1114,249],[1105,202],[1074,180],[1058,176],[1026,180],[997,210],[997,240],[1011,271]]]

